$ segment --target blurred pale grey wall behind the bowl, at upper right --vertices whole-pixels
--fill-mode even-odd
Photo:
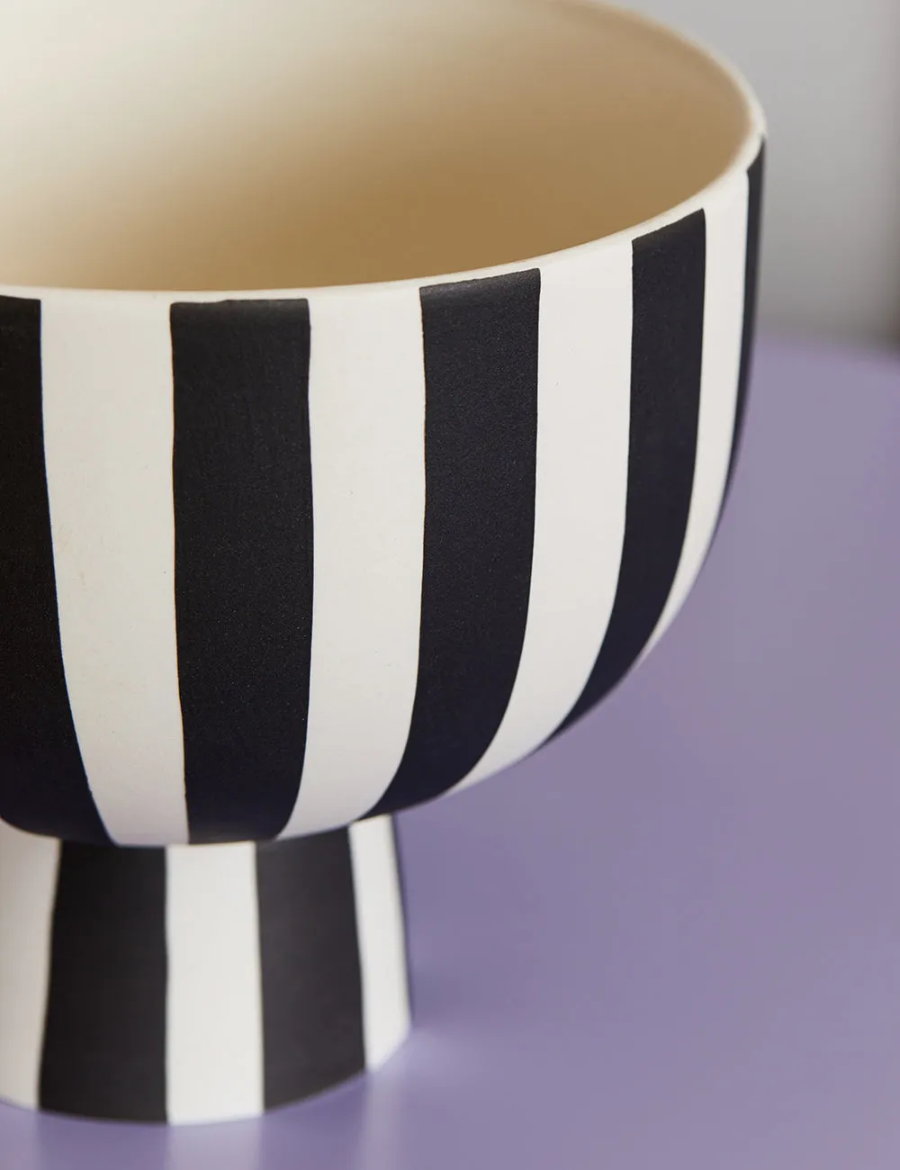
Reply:
[[[769,119],[762,314],[900,340],[900,0],[623,0],[730,57]]]

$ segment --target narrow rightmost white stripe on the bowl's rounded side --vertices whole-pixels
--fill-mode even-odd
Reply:
[[[731,454],[743,333],[747,253],[746,174],[706,208],[706,291],[694,486],[675,579],[645,658],[668,629],[703,564],[715,532]]]

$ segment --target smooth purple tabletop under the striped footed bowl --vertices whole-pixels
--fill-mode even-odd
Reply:
[[[15,1170],[896,1170],[900,360],[761,346],[678,622],[401,818],[413,1038],[261,1122],[0,1107]]]

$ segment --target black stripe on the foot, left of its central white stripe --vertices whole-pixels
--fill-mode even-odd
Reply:
[[[63,845],[41,1107],[165,1121],[165,851]]]

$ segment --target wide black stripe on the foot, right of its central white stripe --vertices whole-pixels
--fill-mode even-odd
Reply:
[[[345,828],[257,846],[264,1101],[297,1101],[365,1067]]]

